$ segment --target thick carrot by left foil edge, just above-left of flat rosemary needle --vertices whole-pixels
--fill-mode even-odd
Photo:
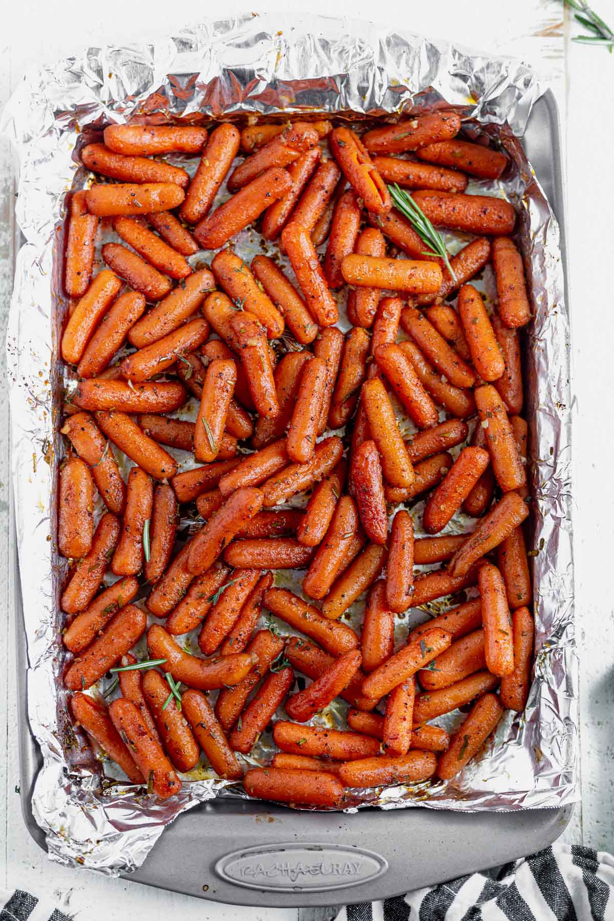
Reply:
[[[68,690],[85,691],[98,682],[134,646],[146,626],[145,612],[126,604],[66,671],[64,684]]]

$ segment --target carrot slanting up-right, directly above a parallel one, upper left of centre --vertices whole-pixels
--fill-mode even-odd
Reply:
[[[135,348],[144,348],[168,333],[179,329],[182,323],[197,310],[205,295],[215,286],[214,276],[209,269],[199,269],[186,278],[185,286],[178,285],[170,294],[149,310],[128,333],[128,339]]]

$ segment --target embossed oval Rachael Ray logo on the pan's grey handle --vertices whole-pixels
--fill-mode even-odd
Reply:
[[[295,843],[248,847],[215,864],[224,880],[280,892],[346,889],[375,880],[387,869],[384,857],[363,847]]]

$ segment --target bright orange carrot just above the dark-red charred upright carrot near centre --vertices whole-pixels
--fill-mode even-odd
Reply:
[[[415,479],[413,467],[400,436],[399,424],[381,380],[363,384],[361,398],[365,406],[371,436],[381,455],[382,470],[388,483],[408,488]]]

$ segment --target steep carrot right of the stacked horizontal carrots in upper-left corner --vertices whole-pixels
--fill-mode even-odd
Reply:
[[[208,214],[217,190],[237,157],[238,143],[239,134],[234,124],[220,124],[210,134],[180,207],[180,217],[188,224],[197,224]]]

